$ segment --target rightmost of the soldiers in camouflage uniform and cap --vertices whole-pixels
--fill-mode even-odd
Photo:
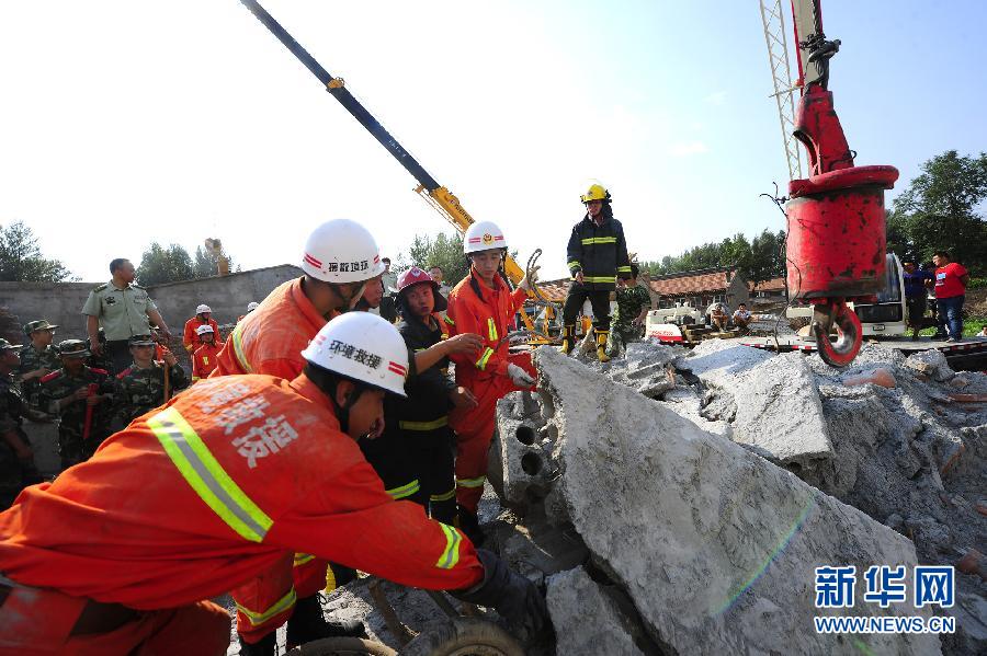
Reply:
[[[164,403],[166,367],[172,395],[189,387],[185,370],[170,350],[164,352],[163,365],[155,361],[156,343],[150,335],[134,335],[129,343],[134,364],[116,375],[116,413],[124,425]]]

